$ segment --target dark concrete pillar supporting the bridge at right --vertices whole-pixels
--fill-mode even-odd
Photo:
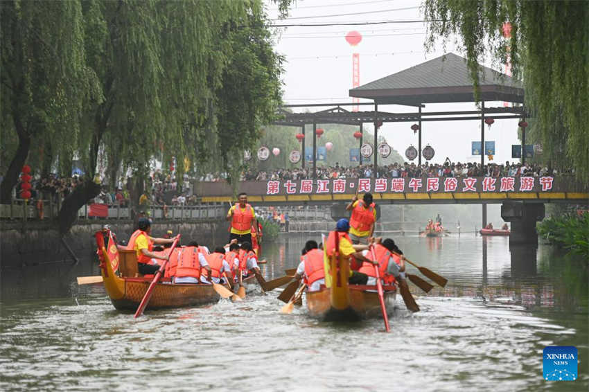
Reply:
[[[509,244],[538,244],[536,222],[543,220],[543,203],[505,202],[501,205],[501,217],[511,222]]]

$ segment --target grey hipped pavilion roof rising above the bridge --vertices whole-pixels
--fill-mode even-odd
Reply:
[[[356,87],[349,95],[379,104],[412,106],[475,101],[466,59],[454,53]],[[523,103],[524,89],[518,80],[481,65],[479,99]]]

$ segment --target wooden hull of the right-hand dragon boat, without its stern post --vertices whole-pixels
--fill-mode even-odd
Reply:
[[[385,306],[387,313],[392,312],[396,289],[387,286]],[[366,291],[367,289],[374,290]],[[306,293],[308,312],[312,317],[322,321],[360,321],[372,317],[382,317],[376,286],[349,286],[349,304],[344,308],[335,308],[331,304],[331,289],[323,287],[317,292]]]

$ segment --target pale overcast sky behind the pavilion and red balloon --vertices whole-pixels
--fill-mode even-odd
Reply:
[[[276,20],[274,23],[333,24],[421,20],[423,15],[419,10],[420,5],[421,2],[412,0],[305,0],[297,1],[292,6],[288,19]],[[270,17],[276,19],[276,6],[269,3],[267,8]],[[360,54],[360,85],[444,53],[463,55],[453,42],[447,44],[446,51],[440,42],[434,51],[425,53],[425,24],[421,22],[373,26],[297,26],[276,30],[281,31],[281,36],[276,40],[276,51],[284,55],[286,60],[283,88],[287,104],[351,102],[348,91],[352,84],[352,53]],[[362,42],[358,46],[350,46],[344,38],[351,30],[362,34]],[[485,105],[499,107],[502,102]],[[378,109],[385,112],[416,111],[414,107],[400,105],[380,105]],[[474,103],[428,104],[423,111],[474,109]],[[315,111],[317,108],[310,110]],[[520,143],[517,139],[517,124],[518,120],[495,121],[491,130],[486,132],[485,139],[495,141],[493,162],[512,161],[511,145]],[[411,125],[412,123],[385,123],[379,134],[385,136],[389,145],[404,156],[409,145],[417,147],[417,136],[410,130]],[[364,127],[371,129],[367,125]],[[422,127],[422,148],[430,144],[435,149],[433,163],[441,163],[446,157],[450,157],[452,161],[480,162],[480,156],[471,155],[471,142],[480,141],[479,121],[425,122]],[[295,132],[293,128],[293,137]]]

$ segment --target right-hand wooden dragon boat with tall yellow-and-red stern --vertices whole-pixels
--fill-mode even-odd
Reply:
[[[306,292],[309,314],[323,321],[360,321],[382,317],[376,285],[350,285],[349,260],[335,256],[329,260],[331,266],[326,275],[326,285],[318,291]],[[383,290],[388,314],[394,307],[396,286],[386,285]]]

